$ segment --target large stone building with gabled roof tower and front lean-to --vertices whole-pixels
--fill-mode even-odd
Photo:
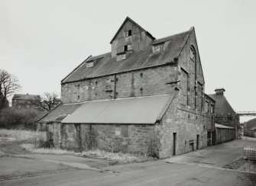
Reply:
[[[62,104],[38,120],[42,138],[160,159],[207,146],[214,122],[194,27],[155,39],[126,18],[110,43],[61,81]]]

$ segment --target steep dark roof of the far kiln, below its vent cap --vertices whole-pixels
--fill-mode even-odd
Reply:
[[[210,98],[216,101],[215,113],[216,114],[235,114],[234,109],[228,103],[224,95],[209,95]]]

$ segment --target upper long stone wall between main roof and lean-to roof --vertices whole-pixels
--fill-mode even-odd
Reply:
[[[177,86],[170,82],[177,82],[177,67],[174,65],[66,83],[61,85],[61,99],[65,104],[100,99],[164,95],[170,94]]]

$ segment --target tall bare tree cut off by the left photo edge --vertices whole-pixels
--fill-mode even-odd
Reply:
[[[5,106],[8,98],[20,89],[18,78],[6,70],[0,69],[0,109]]]

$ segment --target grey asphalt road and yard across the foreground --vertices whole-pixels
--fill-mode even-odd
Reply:
[[[242,160],[235,140],[154,162],[110,166],[74,156],[15,155],[0,158],[0,185],[256,185],[254,165]]]

